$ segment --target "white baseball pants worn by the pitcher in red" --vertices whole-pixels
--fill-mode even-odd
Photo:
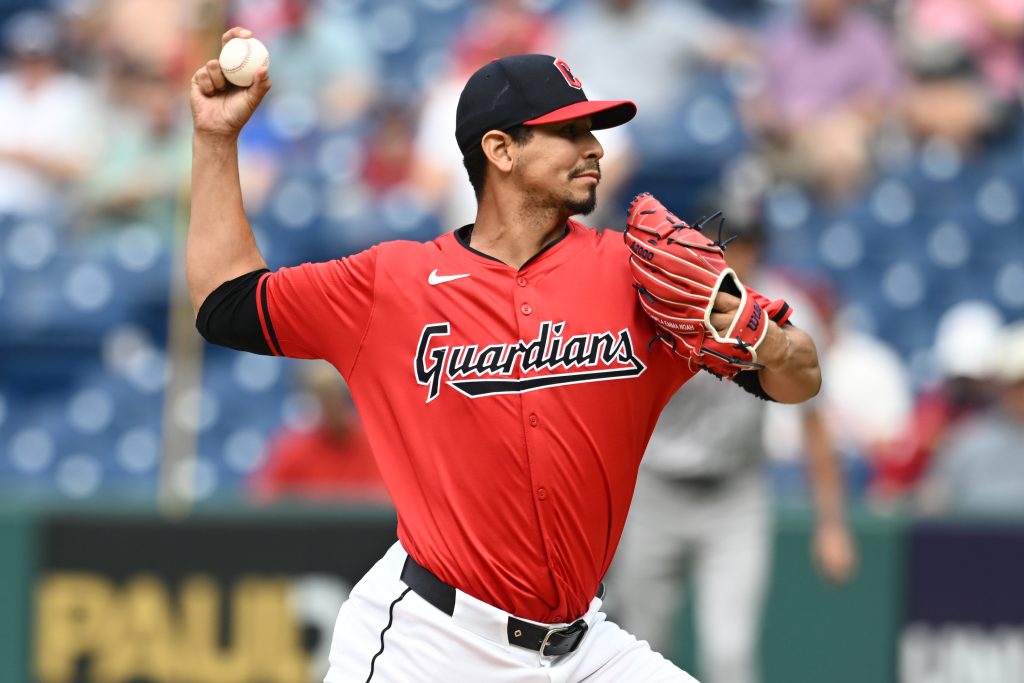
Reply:
[[[509,614],[456,591],[454,614],[400,579],[406,551],[395,544],[341,606],[325,683],[696,683],[600,611],[584,615],[580,647],[544,656],[508,642]],[[559,626],[559,625],[553,625]]]

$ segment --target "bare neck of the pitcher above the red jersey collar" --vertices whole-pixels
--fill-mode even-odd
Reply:
[[[519,269],[565,230],[569,214],[564,210],[528,206],[525,202],[502,202],[486,196],[476,211],[469,246]]]

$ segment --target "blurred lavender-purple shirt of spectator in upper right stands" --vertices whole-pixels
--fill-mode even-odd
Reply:
[[[764,57],[766,94],[788,126],[860,96],[886,99],[901,81],[889,32],[859,10],[850,10],[828,33],[798,17],[769,33]]]

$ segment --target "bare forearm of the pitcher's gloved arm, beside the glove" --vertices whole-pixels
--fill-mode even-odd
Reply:
[[[821,370],[814,342],[792,325],[768,323],[768,333],[758,348],[761,386],[780,403],[799,403],[818,393]]]

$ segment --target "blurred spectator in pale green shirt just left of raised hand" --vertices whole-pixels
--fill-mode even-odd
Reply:
[[[83,182],[79,220],[90,231],[141,222],[169,234],[190,166],[180,86],[137,62],[117,65],[111,83],[106,143]]]

